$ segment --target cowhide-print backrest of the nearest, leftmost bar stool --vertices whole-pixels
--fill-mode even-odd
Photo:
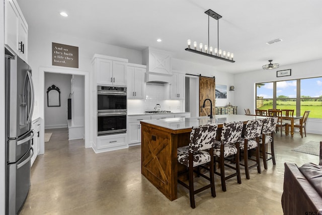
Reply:
[[[189,153],[210,149],[214,146],[218,125],[192,127],[189,141]]]

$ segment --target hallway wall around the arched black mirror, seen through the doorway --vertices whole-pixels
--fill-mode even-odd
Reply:
[[[45,73],[45,129],[67,127],[67,99],[71,92],[71,75]],[[47,89],[55,85],[60,90],[60,107],[47,106]]]

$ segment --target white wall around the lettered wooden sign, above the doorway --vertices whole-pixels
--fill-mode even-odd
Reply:
[[[69,70],[82,70],[88,71],[92,73],[91,60],[95,53],[104,54],[114,57],[121,57],[129,59],[131,63],[142,63],[142,52],[122,48],[118,46],[108,45],[104,43],[98,43],[95,41],[89,41],[77,37],[72,37],[69,35],[57,34],[55,32],[44,32],[39,28],[34,28],[32,23],[28,23],[28,63],[33,69],[33,80],[35,87],[35,97],[37,106],[35,106],[33,117],[40,116],[42,112],[40,109],[43,108],[43,104],[41,104],[40,93],[39,91],[39,67],[51,67],[51,68],[64,68],[61,66],[53,66],[51,65],[51,45],[52,42],[62,43],[66,45],[72,45],[78,47],[78,68],[68,68]],[[42,99],[41,99],[42,100]],[[41,116],[40,116],[41,117]]]

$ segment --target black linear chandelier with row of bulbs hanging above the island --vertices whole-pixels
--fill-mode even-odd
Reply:
[[[208,15],[208,45],[204,45],[202,43],[199,43],[199,50],[197,50],[197,42],[193,42],[193,46],[194,48],[190,48],[191,47],[191,40],[188,40],[188,48],[185,48],[186,51],[191,51],[193,53],[197,53],[197,54],[202,54],[208,57],[213,57],[216,59],[220,59],[220,60],[225,60],[228,62],[235,62],[233,60],[233,53],[230,52],[226,52],[226,51],[222,51],[221,49],[219,49],[219,19],[222,18],[222,16],[220,16],[219,14],[213,12],[212,10],[208,10],[205,12],[205,14]],[[217,38],[218,38],[218,43],[217,43],[217,48],[213,48],[212,46],[209,46],[209,17],[214,18],[215,20],[217,20]],[[208,47],[209,47],[209,51],[208,51]],[[202,51],[202,48],[204,48],[204,51]]]

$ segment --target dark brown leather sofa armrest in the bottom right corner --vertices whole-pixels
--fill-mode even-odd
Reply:
[[[282,208],[288,214],[322,214],[322,197],[316,192],[296,164],[284,163]]]

